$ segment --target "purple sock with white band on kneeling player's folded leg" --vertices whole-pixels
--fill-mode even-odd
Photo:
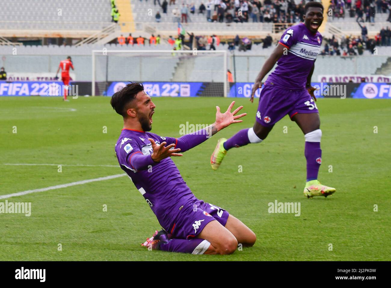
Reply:
[[[209,245],[209,241],[200,238],[194,238],[191,240],[170,239],[168,243],[161,242],[159,250],[167,252],[204,254],[204,252],[208,250]]]

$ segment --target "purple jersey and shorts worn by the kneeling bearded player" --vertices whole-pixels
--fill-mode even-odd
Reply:
[[[176,144],[175,148],[178,148],[178,145],[181,152],[184,152],[202,143],[208,137],[203,134],[188,134],[177,139],[161,137],[151,132],[122,129],[115,145],[115,153],[120,167],[131,178],[133,184],[145,198],[162,228],[176,238],[186,239],[188,235],[195,237],[208,222],[215,220],[215,218],[203,214],[203,209],[207,209],[204,206],[194,209],[195,203],[198,206],[201,205],[200,200],[194,196],[186,185],[170,157],[161,160],[159,163],[154,163],[152,158],[149,159],[153,150],[148,138],[154,139],[157,145],[162,142],[167,143],[165,146]],[[133,167],[133,157],[137,157],[136,155],[147,157],[147,161],[150,161],[147,169],[137,171]],[[219,208],[219,215],[222,213],[220,211],[224,211],[224,214],[219,217],[221,218],[221,222],[219,222],[225,225],[229,215],[228,212],[220,207],[213,207],[212,210]],[[212,210],[208,207],[208,211],[212,212]]]

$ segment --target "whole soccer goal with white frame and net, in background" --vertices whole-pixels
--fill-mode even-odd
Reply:
[[[192,96],[224,96],[229,93],[226,50],[93,50],[92,96],[108,91],[113,82],[151,82],[193,89]],[[171,90],[169,95],[190,96],[188,90]]]

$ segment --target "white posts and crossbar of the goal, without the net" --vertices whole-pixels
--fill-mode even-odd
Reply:
[[[227,81],[227,51],[226,50],[92,50],[92,80],[91,80],[91,95],[95,96],[95,54],[101,54],[101,55],[106,55],[108,53],[157,53],[157,54],[164,54],[164,53],[184,53],[184,54],[222,54],[223,55],[223,74],[224,74],[224,97],[228,97],[228,81]]]

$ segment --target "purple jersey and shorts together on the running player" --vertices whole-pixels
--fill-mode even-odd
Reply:
[[[272,127],[285,115],[319,113],[316,104],[305,88],[308,74],[315,63],[322,43],[322,35],[312,34],[300,23],[287,29],[278,45],[287,47],[262,87],[256,121]]]

